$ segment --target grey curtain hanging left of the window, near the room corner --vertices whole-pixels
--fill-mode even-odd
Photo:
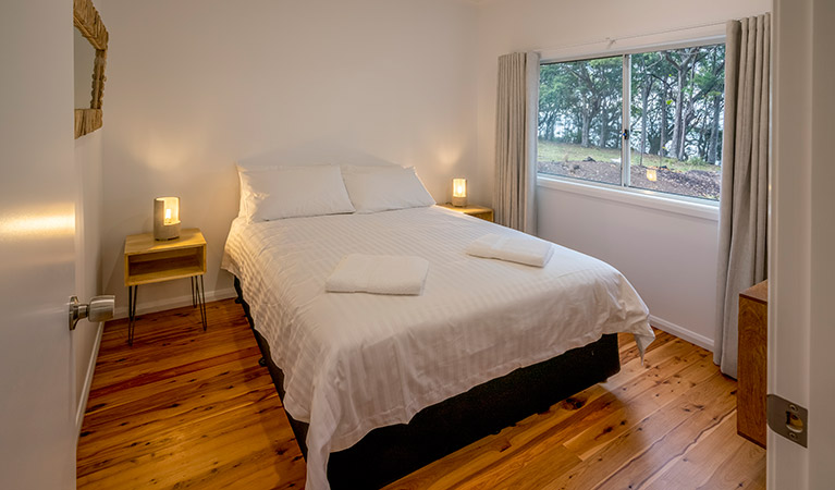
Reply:
[[[539,54],[499,58],[493,207],[499,224],[535,234]]]

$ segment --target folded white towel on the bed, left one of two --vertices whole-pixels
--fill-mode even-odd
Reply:
[[[420,257],[351,254],[326,280],[332,293],[374,293],[419,296],[429,271]]]

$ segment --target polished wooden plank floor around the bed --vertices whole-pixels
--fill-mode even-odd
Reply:
[[[109,322],[78,442],[78,488],[302,488],[305,462],[241,307]],[[390,489],[765,488],[765,452],[736,434],[736,382],[658,332],[622,370]]]

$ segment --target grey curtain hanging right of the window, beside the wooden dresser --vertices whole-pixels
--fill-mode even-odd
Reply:
[[[765,279],[771,16],[727,23],[713,360],[736,378],[739,293]]]

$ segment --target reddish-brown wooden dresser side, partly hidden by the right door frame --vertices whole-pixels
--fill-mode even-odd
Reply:
[[[769,281],[739,293],[739,358],[736,409],[739,436],[765,448]]]

